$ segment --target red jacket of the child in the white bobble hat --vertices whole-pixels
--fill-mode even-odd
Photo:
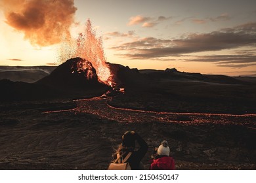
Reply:
[[[163,156],[158,159],[153,159],[150,165],[150,170],[174,170],[175,161],[173,157]]]

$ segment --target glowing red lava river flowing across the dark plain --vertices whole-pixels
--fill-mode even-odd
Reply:
[[[254,126],[256,114],[203,114],[203,113],[178,113],[178,112],[154,112],[147,110],[134,110],[131,108],[116,108],[108,104],[111,97],[102,95],[91,99],[74,100],[77,107],[69,110],[56,110],[52,112],[74,112],[95,114],[100,118],[115,120],[117,122],[173,122],[181,124],[241,124]],[[254,127],[251,127],[254,129]]]

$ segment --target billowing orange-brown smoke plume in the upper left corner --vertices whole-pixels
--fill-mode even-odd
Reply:
[[[0,0],[6,23],[33,45],[49,46],[70,37],[74,0]]]

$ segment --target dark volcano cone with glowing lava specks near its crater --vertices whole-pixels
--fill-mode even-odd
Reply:
[[[0,86],[0,101],[96,96],[110,89],[98,81],[92,63],[82,58],[68,59],[37,82],[1,80]]]

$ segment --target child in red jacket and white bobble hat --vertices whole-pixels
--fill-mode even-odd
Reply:
[[[170,157],[170,148],[167,141],[162,141],[158,148],[155,148],[156,154],[152,155],[153,162],[150,170],[174,170],[175,161]]]

